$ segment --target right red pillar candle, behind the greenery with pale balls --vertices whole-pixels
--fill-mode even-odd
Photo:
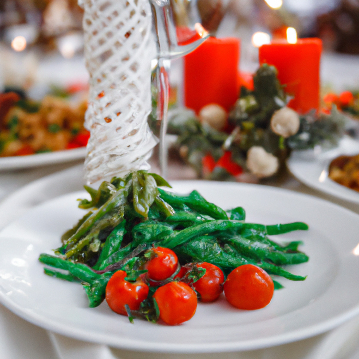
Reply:
[[[294,98],[288,106],[299,113],[318,110],[322,41],[298,39],[296,43],[272,42],[259,48],[260,64],[274,65],[285,91]]]

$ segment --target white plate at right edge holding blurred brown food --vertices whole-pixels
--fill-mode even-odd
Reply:
[[[351,190],[328,177],[331,161],[340,155],[359,154],[359,140],[344,137],[338,147],[316,153],[314,150],[293,151],[287,160],[289,171],[305,185],[337,198],[359,204],[359,192]]]

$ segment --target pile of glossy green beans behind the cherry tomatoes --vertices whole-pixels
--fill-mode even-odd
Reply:
[[[129,280],[143,273],[144,253],[152,246],[171,248],[182,265],[209,262],[225,275],[254,264],[270,275],[306,278],[282,267],[308,261],[298,250],[302,242],[283,245],[269,236],[307,230],[307,224],[247,223],[242,207],[225,211],[197,191],[180,196],[159,188],[166,186],[162,177],[146,171],[114,177],[98,190],[85,186],[91,200],[80,200],[79,207],[89,211],[64,233],[55,255],[40,255],[45,274],[82,283],[90,307],[103,301],[115,271],[125,270]],[[281,288],[277,281],[275,286]]]

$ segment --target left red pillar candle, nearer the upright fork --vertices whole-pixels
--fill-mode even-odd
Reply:
[[[208,38],[184,59],[185,106],[198,113],[210,103],[227,111],[238,98],[240,40]]]

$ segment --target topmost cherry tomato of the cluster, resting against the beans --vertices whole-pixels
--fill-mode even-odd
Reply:
[[[176,253],[169,248],[156,247],[149,250],[150,259],[145,264],[147,276],[152,280],[165,280],[177,269],[178,259]]]

